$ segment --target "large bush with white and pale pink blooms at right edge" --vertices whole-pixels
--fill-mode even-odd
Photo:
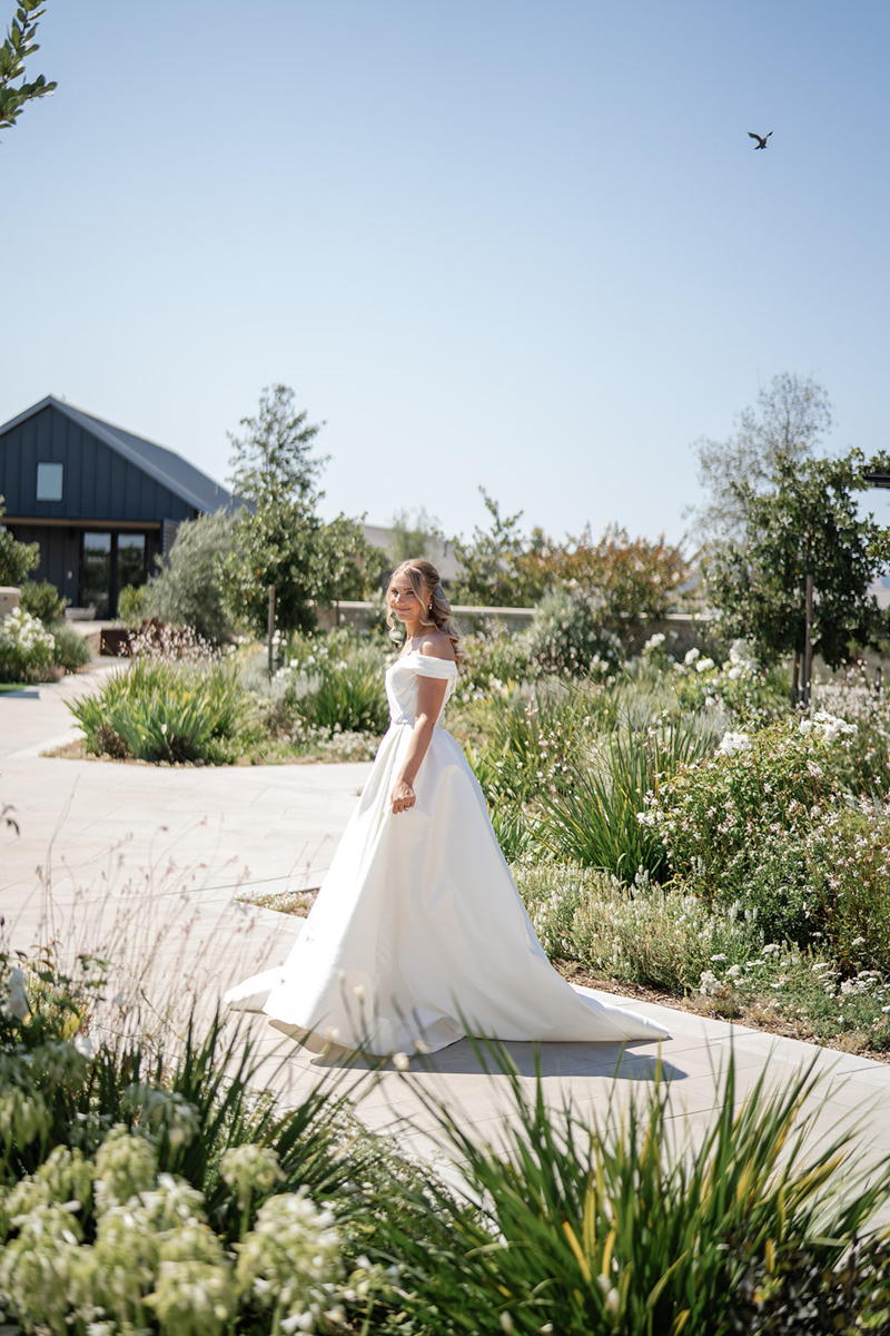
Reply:
[[[826,711],[729,733],[713,760],[651,791],[639,819],[687,887],[753,907],[767,941],[826,933],[845,963],[859,939],[890,969],[890,804],[846,790],[855,735]]]

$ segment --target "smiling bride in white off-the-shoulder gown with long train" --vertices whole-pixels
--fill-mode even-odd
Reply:
[[[576,991],[535,935],[467,760],[442,727],[463,659],[439,572],[404,561],[388,589],[406,640],[386,673],[390,728],[283,966],[232,1006],[374,1054],[496,1039],[660,1039]],[[400,639],[400,637],[398,637]]]

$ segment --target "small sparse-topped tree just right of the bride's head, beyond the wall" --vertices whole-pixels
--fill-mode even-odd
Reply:
[[[476,526],[468,542],[463,538],[454,540],[460,573],[452,580],[448,596],[458,604],[528,608],[544,592],[538,573],[528,564],[535,538],[526,538],[519,528],[522,510],[502,516],[494,497],[484,488],[479,488],[479,492],[491,516],[491,526]]]

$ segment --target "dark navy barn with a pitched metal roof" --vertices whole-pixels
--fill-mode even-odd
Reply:
[[[183,520],[239,505],[181,456],[52,395],[0,426],[0,524],[40,544],[32,578],[97,617],[116,616]]]

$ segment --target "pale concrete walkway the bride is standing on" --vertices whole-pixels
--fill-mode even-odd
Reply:
[[[20,830],[0,824],[5,931],[21,949],[55,938],[68,958],[101,946],[155,1005],[179,991],[211,1010],[228,986],[284,959],[302,926],[240,898],[319,884],[370,766],[179,770],[40,756],[71,736],[65,701],[95,684],[96,675],[88,675],[0,695],[0,808],[12,804]],[[867,1158],[890,1156],[890,1065],[651,1003],[628,1005],[671,1030],[660,1059],[673,1081],[678,1128],[694,1132],[713,1113],[730,1050],[737,1100],[767,1059],[775,1082],[815,1059],[830,1077],[817,1133],[861,1121]],[[314,1058],[264,1018],[244,1023],[262,1058],[260,1082],[287,1098],[318,1082],[326,1065],[336,1066],[335,1055]],[[535,1046],[506,1047],[531,1085]],[[568,1096],[579,1112],[602,1116],[610,1093],[623,1097],[651,1082],[658,1050],[634,1045],[622,1055],[607,1043],[542,1045],[547,1098],[562,1104]],[[408,1079],[388,1070],[366,1081],[360,1114],[368,1126],[396,1134],[406,1150],[438,1156],[422,1096],[442,1097],[463,1124],[495,1137],[507,1108],[504,1088],[463,1041]]]

